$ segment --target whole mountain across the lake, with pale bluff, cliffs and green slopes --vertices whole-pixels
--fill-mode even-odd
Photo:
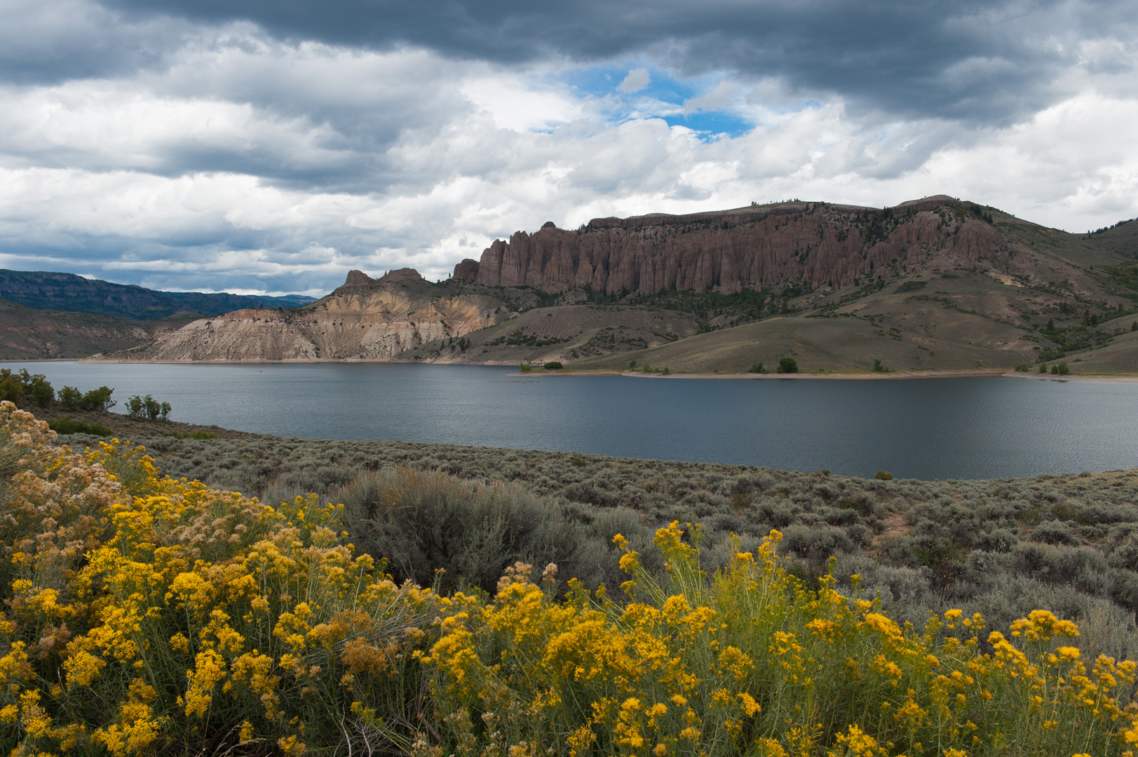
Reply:
[[[296,311],[239,311],[102,359],[636,360],[694,372],[782,356],[831,371],[1067,359],[1077,372],[1138,372],[1129,233],[1070,234],[945,196],[545,224],[445,282],[354,272]]]

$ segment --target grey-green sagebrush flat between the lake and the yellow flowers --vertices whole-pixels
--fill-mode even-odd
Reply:
[[[113,427],[119,419],[113,413],[91,417]],[[66,438],[76,447],[99,441]],[[388,570],[397,582],[411,577],[430,584],[430,568],[445,567],[444,585],[465,578],[493,591],[501,570],[523,560],[556,562],[562,575],[577,576],[589,589],[604,584],[615,593],[625,579],[620,553],[611,543],[617,533],[641,550],[653,569],[662,569],[651,549],[652,536],[673,520],[702,524],[702,559],[710,567],[728,563],[731,534],[740,537],[743,551],[753,551],[777,528],[785,535],[781,551],[794,558],[793,571],[819,576],[827,559],[838,556],[840,587],[849,590],[848,576],[859,574],[863,587],[880,592],[898,622],[920,626],[932,612],[958,608],[1006,626],[1033,608],[1048,607],[1077,620],[1081,639],[1094,643],[1096,655],[1138,659],[1135,470],[997,480],[879,480],[411,442],[273,436],[147,436],[135,442],[145,444],[170,476],[265,502],[315,492],[325,504],[343,503],[352,541],[372,554],[391,556]],[[423,488],[388,486],[385,482],[396,476],[396,468],[413,468],[432,483]],[[493,489],[489,484],[509,486]],[[378,491],[401,495],[396,502],[377,497]],[[496,516],[501,528],[493,540],[479,536],[487,502],[471,491],[490,492],[489,499],[506,505]],[[437,496],[428,496],[431,492]],[[451,527],[427,532],[413,525],[415,518]],[[390,528],[396,521],[405,525]],[[464,524],[475,527],[463,530]],[[415,549],[436,557],[426,562],[396,559],[407,538],[421,541],[427,534],[435,543]],[[485,567],[472,574],[471,566]]]

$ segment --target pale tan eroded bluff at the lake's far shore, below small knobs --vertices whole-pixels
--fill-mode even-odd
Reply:
[[[295,310],[238,310],[193,321],[160,339],[91,362],[386,361],[434,339],[460,338],[509,318],[480,295],[431,297],[414,269],[344,286]],[[410,285],[410,286],[401,286]]]

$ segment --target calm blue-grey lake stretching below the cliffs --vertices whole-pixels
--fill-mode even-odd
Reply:
[[[725,380],[512,377],[390,363],[8,361],[58,389],[115,388],[188,423],[335,439],[445,442],[904,478],[1138,467],[1138,384],[1009,378]]]

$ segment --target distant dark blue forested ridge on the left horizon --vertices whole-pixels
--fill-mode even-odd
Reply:
[[[315,297],[158,291],[134,285],[84,279],[74,273],[0,269],[0,299],[42,311],[156,321],[185,312],[222,315],[246,307],[299,307],[313,302]]]

